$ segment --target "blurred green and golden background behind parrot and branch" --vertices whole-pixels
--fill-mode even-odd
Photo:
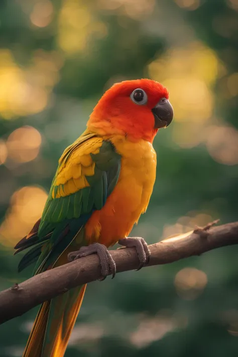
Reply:
[[[41,216],[57,161],[105,89],[149,77],[175,118],[154,142],[157,181],[133,230],[148,243],[237,219],[237,0],[0,2],[0,289]],[[238,352],[237,248],[89,284],[66,357],[223,357]],[[21,356],[37,309],[0,326]]]

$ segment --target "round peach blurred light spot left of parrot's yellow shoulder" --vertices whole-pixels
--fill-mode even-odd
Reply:
[[[10,134],[7,140],[9,158],[17,163],[34,160],[39,154],[41,134],[33,127],[22,127]]]

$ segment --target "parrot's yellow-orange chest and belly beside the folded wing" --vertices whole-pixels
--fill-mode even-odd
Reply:
[[[122,137],[111,141],[122,155],[120,176],[103,208],[85,226],[89,243],[98,241],[107,247],[127,236],[146,211],[156,176],[156,153],[149,142],[132,143]]]

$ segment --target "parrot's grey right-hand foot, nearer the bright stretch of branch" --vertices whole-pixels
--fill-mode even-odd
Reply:
[[[148,244],[141,237],[127,237],[120,239],[118,244],[125,246],[127,248],[136,248],[136,252],[140,261],[139,268],[140,270],[145,264],[148,264],[150,261],[151,252],[149,250]]]

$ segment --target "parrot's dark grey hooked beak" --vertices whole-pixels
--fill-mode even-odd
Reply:
[[[152,112],[155,117],[155,129],[166,128],[172,122],[174,110],[168,99],[161,98]]]

